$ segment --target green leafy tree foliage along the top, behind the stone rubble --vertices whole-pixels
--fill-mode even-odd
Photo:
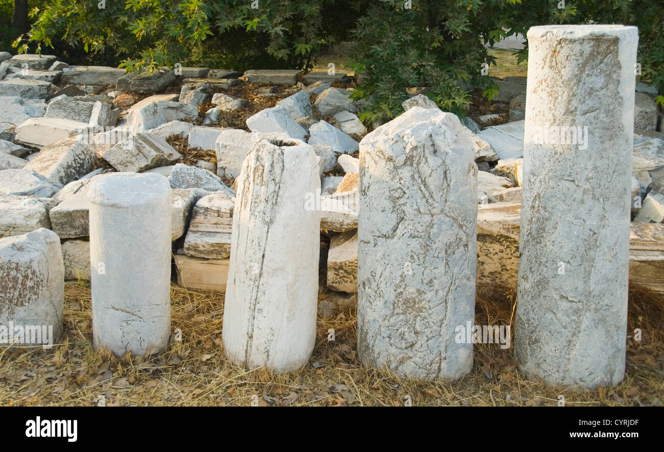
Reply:
[[[0,7],[6,7],[0,0]],[[31,9],[21,52],[154,70],[175,63],[245,70],[311,68],[353,39],[367,100],[362,117],[401,112],[406,88],[427,86],[444,110],[463,115],[469,93],[491,98],[485,42],[548,23],[639,27],[641,79],[664,92],[664,3],[652,0],[42,0]],[[31,3],[31,6],[35,3]],[[103,7],[102,7],[103,6]],[[102,7],[102,8],[100,8]],[[1,9],[1,8],[0,8]],[[1,12],[1,11],[0,11]],[[55,51],[57,50],[57,51]],[[527,49],[519,52],[527,58]],[[664,100],[664,99],[662,99]]]

